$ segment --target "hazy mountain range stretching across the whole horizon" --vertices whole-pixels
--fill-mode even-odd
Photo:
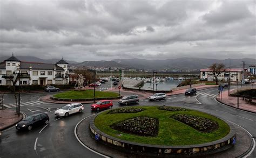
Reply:
[[[0,62],[9,57],[0,57]],[[16,56],[21,61],[42,62],[42,63],[56,63],[60,59],[44,60],[33,56]],[[160,69],[201,69],[208,68],[213,63],[224,63],[226,68],[242,68],[242,61],[246,62],[246,68],[250,65],[255,65],[255,59],[204,59],[204,58],[177,58],[166,60],[145,60],[145,59],[114,59],[111,61],[67,61],[71,66],[75,67],[116,67],[116,68],[130,68],[130,69],[144,69],[144,70],[160,70]],[[231,63],[231,64],[230,64]]]

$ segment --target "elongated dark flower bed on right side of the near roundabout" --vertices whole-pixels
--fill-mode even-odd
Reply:
[[[217,130],[219,127],[218,123],[216,123],[215,121],[203,117],[197,117],[188,114],[176,114],[172,117],[178,121],[181,121],[184,124],[187,124],[188,126],[193,127],[200,132],[210,133]]]

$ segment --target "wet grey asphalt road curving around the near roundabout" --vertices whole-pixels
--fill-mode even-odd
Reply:
[[[51,92],[51,94],[54,93]],[[143,99],[138,105],[173,105],[210,113],[244,127],[255,139],[256,114],[221,105],[213,97],[204,96],[204,94],[213,96],[213,94],[218,94],[218,90],[217,88],[201,90],[198,91],[197,96],[169,96],[166,100],[156,102]],[[22,102],[27,105],[22,106],[21,111],[26,115],[36,112],[48,113],[50,124],[46,127],[33,128],[31,131],[17,131],[15,127],[3,131],[0,139],[0,157],[101,157],[80,145],[74,134],[76,124],[95,113],[90,110],[91,104],[83,104],[83,113],[58,118],[54,116],[54,111],[64,104],[36,104],[35,101],[45,95],[49,94],[22,94]],[[5,104],[14,102],[12,94],[4,96]],[[117,102],[113,102],[113,104],[113,108],[120,107]],[[256,157],[255,149],[250,157]]]

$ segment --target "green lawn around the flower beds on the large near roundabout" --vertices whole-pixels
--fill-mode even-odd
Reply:
[[[95,119],[95,126],[102,132],[119,139],[148,143],[153,145],[193,145],[199,143],[210,142],[225,137],[230,132],[230,127],[221,119],[199,111],[165,111],[158,110],[158,106],[138,106],[144,111],[138,113],[116,113],[108,114],[103,112]],[[204,117],[217,121],[218,130],[211,133],[201,133],[194,128],[185,125],[177,120],[170,118],[174,114],[192,114],[198,117]],[[138,135],[127,134],[124,132],[113,130],[110,125],[129,118],[147,116],[159,119],[159,131],[157,137],[141,137]],[[122,135],[119,135],[122,134]]]

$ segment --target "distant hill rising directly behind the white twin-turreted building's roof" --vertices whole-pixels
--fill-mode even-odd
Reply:
[[[42,63],[56,63],[58,62],[60,59],[49,59],[49,60],[45,60],[45,59],[40,59],[37,58],[35,56],[15,56],[17,59],[21,60],[21,61],[29,61],[29,62],[42,62]],[[3,62],[4,60],[10,58],[10,56],[0,56],[0,62]],[[65,60],[65,59],[64,59]],[[69,61],[69,60],[65,60],[68,63],[78,63],[76,61]]]

